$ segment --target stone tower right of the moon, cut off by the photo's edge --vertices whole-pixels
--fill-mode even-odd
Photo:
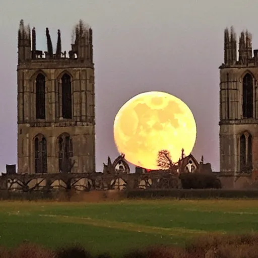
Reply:
[[[258,170],[258,50],[251,34],[239,37],[225,29],[224,63],[220,69],[220,171]],[[254,174],[253,173],[253,174]]]

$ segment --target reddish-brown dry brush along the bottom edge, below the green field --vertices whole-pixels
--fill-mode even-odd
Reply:
[[[123,258],[256,258],[258,234],[206,235],[192,241],[185,248],[152,246],[127,252]],[[7,250],[0,247],[0,258],[111,258],[109,254],[92,256],[82,246],[52,251],[32,243]],[[122,258],[122,257],[121,257]]]

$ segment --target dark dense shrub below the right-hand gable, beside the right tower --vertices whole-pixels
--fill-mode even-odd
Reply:
[[[220,179],[213,174],[182,173],[179,179],[183,189],[222,188]]]

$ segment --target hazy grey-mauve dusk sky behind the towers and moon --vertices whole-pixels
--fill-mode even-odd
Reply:
[[[145,91],[183,100],[197,122],[192,154],[219,171],[219,69],[225,27],[253,35],[258,48],[257,0],[9,0],[2,1],[0,77],[0,171],[17,163],[17,31],[21,19],[36,28],[37,49],[53,46],[61,30],[62,51],[71,49],[74,25],[93,29],[96,94],[96,165],[119,154],[113,121],[119,108]]]

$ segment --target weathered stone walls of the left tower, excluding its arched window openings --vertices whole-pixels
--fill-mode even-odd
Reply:
[[[21,25],[23,26],[23,25]],[[22,28],[22,29],[21,29]],[[18,173],[35,172],[34,139],[43,135],[47,142],[47,172],[58,173],[58,144],[61,134],[68,134],[73,142],[75,161],[72,172],[95,171],[95,101],[94,63],[89,28],[84,26],[73,45],[71,57],[63,54],[60,42],[56,55],[40,56],[31,49],[30,30],[18,40]],[[20,30],[24,30],[20,27]],[[90,32],[92,33],[92,32]],[[33,46],[35,38],[33,37]],[[58,32],[60,37],[60,32]],[[60,38],[59,38],[60,39]],[[50,42],[50,41],[49,41]],[[50,43],[49,43],[50,44]],[[45,77],[45,118],[36,119],[36,78]],[[71,77],[72,118],[63,118],[61,78]],[[90,92],[90,94],[89,94]],[[87,122],[87,123],[86,123]]]

